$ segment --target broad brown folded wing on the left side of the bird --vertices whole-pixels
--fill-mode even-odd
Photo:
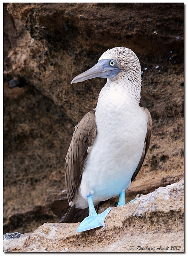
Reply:
[[[88,147],[93,145],[97,133],[95,110],[89,110],[75,127],[65,158],[65,183],[68,201],[72,201],[80,185]]]

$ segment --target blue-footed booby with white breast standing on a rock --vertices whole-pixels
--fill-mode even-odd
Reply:
[[[71,84],[92,78],[107,82],[96,108],[75,126],[65,158],[69,204],[59,223],[80,222],[77,233],[105,226],[113,207],[98,211],[112,197],[119,195],[118,206],[125,204],[125,191],[141,169],[152,130],[149,110],[139,106],[141,65],[131,49],[108,49]]]

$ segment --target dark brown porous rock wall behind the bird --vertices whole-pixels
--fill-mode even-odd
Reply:
[[[184,3],[5,3],[4,233],[58,222],[74,126],[106,79],[70,81],[115,46],[139,57],[153,120],[126,200],[184,177]]]

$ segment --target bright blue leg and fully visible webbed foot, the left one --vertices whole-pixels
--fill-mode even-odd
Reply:
[[[93,205],[93,195],[87,196],[89,204],[89,216],[85,218],[78,226],[76,233],[83,232],[89,229],[95,229],[95,227],[104,227],[104,220],[113,207],[107,208],[101,214],[97,214]]]

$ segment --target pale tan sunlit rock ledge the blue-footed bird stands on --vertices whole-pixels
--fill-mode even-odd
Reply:
[[[184,252],[184,180],[113,208],[104,228],[76,233],[78,225],[45,223],[4,240],[4,252]]]

